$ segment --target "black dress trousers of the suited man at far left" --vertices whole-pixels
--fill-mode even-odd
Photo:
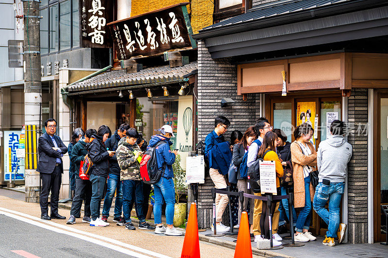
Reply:
[[[62,172],[60,166],[55,167],[51,174],[40,173],[42,179],[42,191],[40,193],[39,204],[43,214],[48,214],[49,208],[47,202],[51,191],[50,206],[51,215],[58,214],[59,190],[62,183]]]

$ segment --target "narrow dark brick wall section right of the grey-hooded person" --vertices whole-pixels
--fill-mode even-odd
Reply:
[[[348,166],[348,242],[368,243],[368,90],[352,89],[348,101],[353,157]]]

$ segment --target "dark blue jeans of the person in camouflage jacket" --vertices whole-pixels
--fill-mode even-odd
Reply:
[[[140,223],[146,222],[143,212],[143,181],[141,180],[123,180],[123,216],[126,223],[131,222],[130,212],[133,203],[136,201],[136,208],[139,211],[138,217]],[[136,196],[136,197],[135,197]]]

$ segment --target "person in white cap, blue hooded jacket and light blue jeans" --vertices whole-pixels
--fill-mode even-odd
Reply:
[[[171,151],[170,146],[173,144],[170,141],[173,134],[173,128],[170,125],[163,125],[161,129],[157,129],[159,135],[154,135],[149,140],[148,148],[154,147],[156,152],[156,160],[158,169],[164,170],[159,182],[154,184],[155,205],[154,205],[154,219],[155,219],[155,233],[165,234],[169,236],[180,236],[182,232],[174,228],[174,205],[175,205],[175,186],[174,186],[174,171],[172,165],[175,162],[175,156],[178,150]],[[161,142],[160,144],[158,144]],[[162,203],[163,198],[166,201],[166,224],[165,228],[162,224]]]

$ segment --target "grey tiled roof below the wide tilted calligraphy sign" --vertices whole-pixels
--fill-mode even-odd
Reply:
[[[170,68],[169,65],[151,67],[136,73],[128,73],[126,69],[105,72],[90,79],[68,87],[67,91],[85,91],[118,86],[140,85],[177,81],[197,73],[197,62]]]

